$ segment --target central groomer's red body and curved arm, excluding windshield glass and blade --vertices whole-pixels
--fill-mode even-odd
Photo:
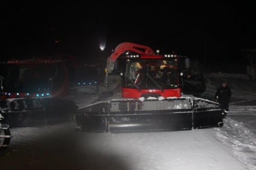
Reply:
[[[125,56],[123,55],[125,54]],[[131,54],[131,55],[130,55]],[[169,57],[168,57],[169,56]],[[134,43],[121,43],[116,48],[115,51],[111,54],[111,56],[108,58],[106,73],[108,74],[111,72],[114,68],[114,62],[118,59],[122,58],[123,60],[126,60],[130,62],[130,60],[134,60],[135,63],[143,63],[149,60],[149,63],[157,63],[157,62],[166,62],[168,59],[173,60],[175,63],[175,69],[176,72],[176,83],[173,87],[166,86],[165,88],[162,88],[160,86],[161,83],[156,82],[155,80],[152,80],[152,77],[149,77],[148,79],[151,79],[153,83],[156,84],[156,86],[149,88],[146,86],[141,87],[127,87],[122,86],[122,98],[132,98],[132,99],[138,99],[141,98],[144,95],[152,96],[154,94],[155,96],[162,96],[164,98],[168,97],[177,97],[179,98],[181,96],[181,88],[179,85],[179,72],[178,72],[178,56],[177,55],[156,55],[152,48],[145,46],[145,45],[139,45]],[[153,67],[153,65],[149,64],[149,67]],[[168,65],[167,65],[168,66]],[[130,65],[126,65],[126,70],[129,69]],[[155,65],[154,65],[155,67]],[[154,71],[159,71],[159,69],[155,69]],[[127,75],[127,72],[125,72],[125,77]],[[131,81],[131,80],[130,80]],[[150,80],[149,80],[150,81]],[[124,83],[122,83],[124,84]],[[166,85],[166,84],[164,84]],[[134,86],[136,86],[136,82],[134,83]]]

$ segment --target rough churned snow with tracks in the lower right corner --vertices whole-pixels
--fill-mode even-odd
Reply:
[[[231,118],[224,120],[223,128],[214,129],[216,138],[225,143],[243,165],[256,169],[256,136],[250,129]]]

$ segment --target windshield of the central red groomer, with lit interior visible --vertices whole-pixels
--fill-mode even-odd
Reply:
[[[174,59],[126,60],[124,87],[171,89],[179,85],[177,61]]]

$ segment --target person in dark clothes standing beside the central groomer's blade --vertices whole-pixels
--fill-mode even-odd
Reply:
[[[231,98],[231,90],[228,87],[226,81],[222,82],[222,86],[220,86],[215,93],[215,102],[220,104],[220,107],[224,109],[223,117],[225,118],[229,111],[229,101]]]

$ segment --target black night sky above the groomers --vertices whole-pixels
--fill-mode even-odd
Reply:
[[[243,4],[241,4],[243,3]],[[204,60],[239,62],[256,48],[251,2],[2,2],[1,62],[8,58],[109,56],[121,42]],[[100,51],[99,44],[106,43]]]

